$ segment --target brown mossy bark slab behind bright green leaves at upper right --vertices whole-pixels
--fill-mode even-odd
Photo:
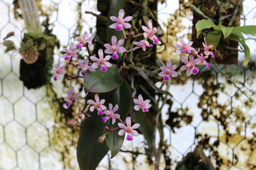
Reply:
[[[202,1],[202,0],[194,0],[193,4],[202,11],[206,16],[215,20],[215,25],[223,25],[223,26],[240,26],[240,15],[242,12],[242,4],[241,0],[227,0],[227,1]],[[238,11],[234,13],[235,9],[238,8]],[[235,17],[232,19],[233,15]],[[229,17],[225,18],[226,16]],[[206,37],[207,33],[214,31],[211,29],[204,29],[202,33],[199,35],[198,39],[196,38],[196,28],[195,25],[197,21],[204,19],[201,15],[193,10],[193,27],[192,27],[192,41],[193,45],[196,49],[202,47],[202,42],[204,42],[204,37]],[[230,22],[231,21],[231,22]],[[210,44],[209,44],[210,45]],[[237,64],[238,60],[238,51],[231,50],[226,47],[237,48],[238,42],[231,41],[228,39],[224,39],[222,36],[220,39],[220,43],[217,46],[216,50],[213,51],[215,54],[216,63],[219,64]]]

